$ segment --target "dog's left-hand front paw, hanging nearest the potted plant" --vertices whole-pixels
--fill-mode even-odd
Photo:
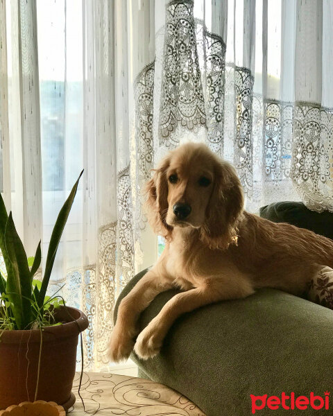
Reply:
[[[113,363],[126,361],[133,351],[134,341],[128,332],[119,329],[116,326],[112,331],[112,335],[108,345],[108,358]]]

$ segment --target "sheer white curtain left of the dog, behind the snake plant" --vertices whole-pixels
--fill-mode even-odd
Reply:
[[[3,198],[28,255],[42,239],[45,261],[85,169],[49,293],[62,288],[85,311],[85,367],[101,369],[115,299],[157,257],[141,211],[133,90],[155,54],[154,2],[2,1],[0,24]]]

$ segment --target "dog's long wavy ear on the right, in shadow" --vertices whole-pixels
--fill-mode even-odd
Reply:
[[[243,209],[243,189],[234,167],[228,162],[217,162],[201,239],[212,249],[225,249],[237,243],[237,223]]]

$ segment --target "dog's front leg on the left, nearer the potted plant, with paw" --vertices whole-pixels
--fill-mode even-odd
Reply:
[[[157,275],[152,268],[123,298],[108,346],[110,361],[117,363],[128,358],[134,347],[133,338],[137,335],[136,322],[139,314],[158,293],[167,291],[171,287],[172,281]]]

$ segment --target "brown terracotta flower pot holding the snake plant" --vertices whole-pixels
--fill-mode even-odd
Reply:
[[[55,401],[67,410],[75,402],[71,388],[78,335],[87,329],[88,320],[83,312],[68,306],[57,309],[56,320],[66,323],[45,327],[42,331],[36,400]],[[3,331],[0,336],[0,409],[35,400],[39,355],[39,329]]]

